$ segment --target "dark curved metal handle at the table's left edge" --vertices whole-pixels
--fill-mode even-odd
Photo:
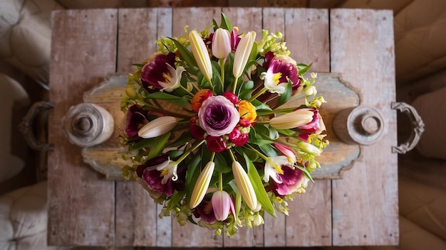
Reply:
[[[36,102],[33,104],[33,106],[31,106],[31,108],[28,110],[28,113],[26,113],[26,116],[24,116],[21,123],[19,124],[19,130],[21,131],[21,134],[23,134],[28,145],[35,150],[51,151],[54,148],[52,144],[37,141],[36,136],[34,136],[33,134],[34,118],[36,118],[36,116],[40,112],[52,109],[53,107],[54,104],[52,102]]]

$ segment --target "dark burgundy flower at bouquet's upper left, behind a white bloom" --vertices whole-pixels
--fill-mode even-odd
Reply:
[[[141,82],[148,92],[153,92],[156,89],[163,89],[159,82],[166,82],[166,75],[170,75],[169,68],[175,67],[175,53],[167,55],[157,52],[154,53],[141,70]]]

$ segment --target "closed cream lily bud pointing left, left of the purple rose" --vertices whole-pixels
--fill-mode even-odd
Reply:
[[[145,124],[139,131],[138,136],[142,138],[154,138],[166,134],[177,126],[177,119],[173,116],[161,116],[148,124]]]

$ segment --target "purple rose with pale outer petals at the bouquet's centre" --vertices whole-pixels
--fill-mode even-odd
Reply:
[[[198,111],[199,126],[210,136],[232,132],[239,123],[240,114],[226,97],[221,95],[204,100]]]

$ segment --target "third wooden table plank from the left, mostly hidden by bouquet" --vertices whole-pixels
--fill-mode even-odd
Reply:
[[[202,31],[212,24],[212,19],[219,20],[221,8],[176,8],[173,9],[172,36],[182,36],[187,31]],[[214,237],[214,231],[187,223],[181,227],[176,218],[172,218],[172,246],[222,246],[222,237]]]

